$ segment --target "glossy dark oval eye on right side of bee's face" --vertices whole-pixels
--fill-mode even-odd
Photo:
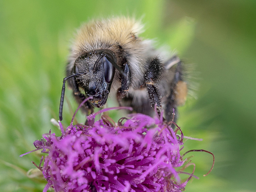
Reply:
[[[112,62],[114,62],[114,59],[105,55],[105,56],[103,56],[102,60],[103,60],[105,81],[107,83],[110,83],[113,81],[114,74],[115,74],[115,67],[114,67],[114,65],[112,65]]]

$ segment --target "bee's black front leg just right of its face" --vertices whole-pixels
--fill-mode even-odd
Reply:
[[[117,98],[119,106],[122,105],[122,103],[121,103],[122,99],[124,97],[128,96],[127,91],[129,90],[129,86],[131,84],[131,71],[130,71],[128,63],[124,64],[124,72],[127,76],[126,77],[122,76],[121,87],[118,88],[117,93],[116,93],[116,98]]]

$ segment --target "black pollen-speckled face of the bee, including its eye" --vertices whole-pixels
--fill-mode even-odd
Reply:
[[[107,102],[115,63],[114,55],[107,50],[83,54],[74,63],[74,73],[81,73],[75,78],[76,83],[86,97],[93,97],[90,101],[94,107],[101,108]]]

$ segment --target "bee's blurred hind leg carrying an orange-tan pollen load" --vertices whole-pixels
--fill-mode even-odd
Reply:
[[[171,90],[169,95],[167,96],[164,109],[165,118],[168,122],[176,122],[177,106],[183,105],[186,101],[187,96],[187,85],[183,78],[183,63],[179,59],[177,59],[176,61],[177,63],[174,63],[175,66],[172,66],[170,69],[171,71],[174,71],[172,69],[176,67],[173,80],[170,84]],[[175,114],[173,114],[173,109]],[[174,124],[172,124],[171,126],[173,129],[175,128]]]

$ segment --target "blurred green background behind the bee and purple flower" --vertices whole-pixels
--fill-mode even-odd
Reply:
[[[134,15],[145,23],[144,38],[168,45],[194,63],[199,82],[178,124],[195,175],[188,192],[256,191],[256,1],[255,0],[23,0],[0,1],[0,190],[39,192],[45,186],[26,172],[40,153],[19,157],[57,119],[70,39],[92,18]],[[67,91],[64,121],[77,104]],[[115,115],[115,112],[112,114]],[[79,114],[80,122],[84,121]],[[185,151],[185,150],[184,150]],[[192,155],[192,153],[191,153]]]

